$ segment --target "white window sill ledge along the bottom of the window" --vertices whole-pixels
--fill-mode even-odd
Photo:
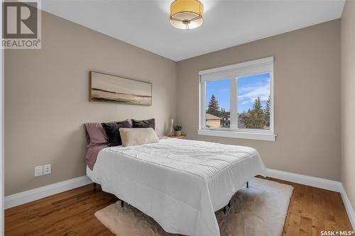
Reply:
[[[248,140],[265,140],[275,141],[276,135],[273,133],[251,133],[240,131],[226,131],[226,130],[197,130],[199,135],[218,136],[218,137],[234,137],[244,138]]]

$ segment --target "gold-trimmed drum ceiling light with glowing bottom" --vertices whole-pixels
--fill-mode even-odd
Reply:
[[[203,4],[197,0],[175,0],[170,5],[170,23],[180,29],[190,30],[203,23]]]

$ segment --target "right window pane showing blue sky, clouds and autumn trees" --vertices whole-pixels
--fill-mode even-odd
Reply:
[[[270,73],[238,78],[238,128],[270,129]]]

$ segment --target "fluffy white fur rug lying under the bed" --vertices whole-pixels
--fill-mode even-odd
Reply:
[[[217,211],[221,235],[270,235],[283,232],[293,187],[254,178],[231,199],[227,212]],[[95,213],[99,221],[116,235],[171,235],[153,218],[121,201]]]

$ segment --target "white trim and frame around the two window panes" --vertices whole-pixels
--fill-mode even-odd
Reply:
[[[231,64],[225,67],[218,67],[214,69],[206,69],[199,72],[199,130],[198,135],[210,135],[219,137],[234,137],[244,138],[251,140],[267,140],[275,141],[274,133],[274,106],[273,106],[273,57],[266,57],[259,60],[252,60],[250,62],[242,62],[239,64]],[[237,78],[242,76],[248,76],[253,74],[271,74],[271,104],[270,104],[270,129],[269,130],[251,130],[251,129],[238,129],[237,128],[237,106],[236,106],[236,94],[237,91]],[[206,120],[204,114],[206,113],[206,82],[214,81],[226,78],[231,79],[231,128],[206,128]],[[234,88],[234,89],[233,89]]]

